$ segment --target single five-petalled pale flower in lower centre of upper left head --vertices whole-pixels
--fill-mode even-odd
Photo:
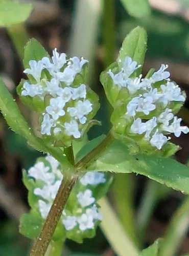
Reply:
[[[65,101],[61,97],[53,98],[50,100],[50,105],[46,107],[46,112],[57,120],[59,116],[64,116],[65,111],[63,110]]]

